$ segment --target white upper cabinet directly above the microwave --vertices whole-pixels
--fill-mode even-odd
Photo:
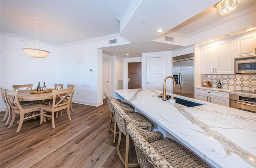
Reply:
[[[256,34],[246,35],[236,39],[235,57],[256,55]]]

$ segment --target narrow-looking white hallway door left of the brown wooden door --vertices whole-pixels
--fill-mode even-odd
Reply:
[[[104,92],[109,94],[109,63],[108,60],[102,59],[102,99],[106,97],[103,95]]]

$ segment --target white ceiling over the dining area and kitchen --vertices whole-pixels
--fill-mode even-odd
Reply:
[[[0,0],[0,30],[54,46],[120,35],[130,44],[101,48],[103,53],[123,58],[142,53],[178,49],[180,45],[152,41],[177,32],[184,37],[220,21],[218,0]],[[240,0],[236,12],[256,5]],[[157,29],[164,32],[157,33]],[[126,55],[129,53],[129,55]]]

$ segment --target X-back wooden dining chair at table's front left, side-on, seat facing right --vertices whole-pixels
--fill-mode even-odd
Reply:
[[[18,91],[11,91],[6,90],[7,100],[12,108],[12,120],[8,128],[12,127],[12,124],[14,123],[16,114],[20,115],[20,121],[17,128],[16,133],[18,133],[22,127],[22,124],[27,119],[39,116],[40,113],[34,113],[34,111],[40,110],[40,107],[43,107],[45,105],[42,104],[26,104],[26,105],[20,105],[20,102],[18,100]],[[29,115],[27,115],[29,114]],[[26,116],[25,116],[26,115]]]

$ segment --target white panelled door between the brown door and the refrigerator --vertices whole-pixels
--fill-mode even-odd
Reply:
[[[166,77],[166,58],[147,59],[147,88],[163,90]]]

